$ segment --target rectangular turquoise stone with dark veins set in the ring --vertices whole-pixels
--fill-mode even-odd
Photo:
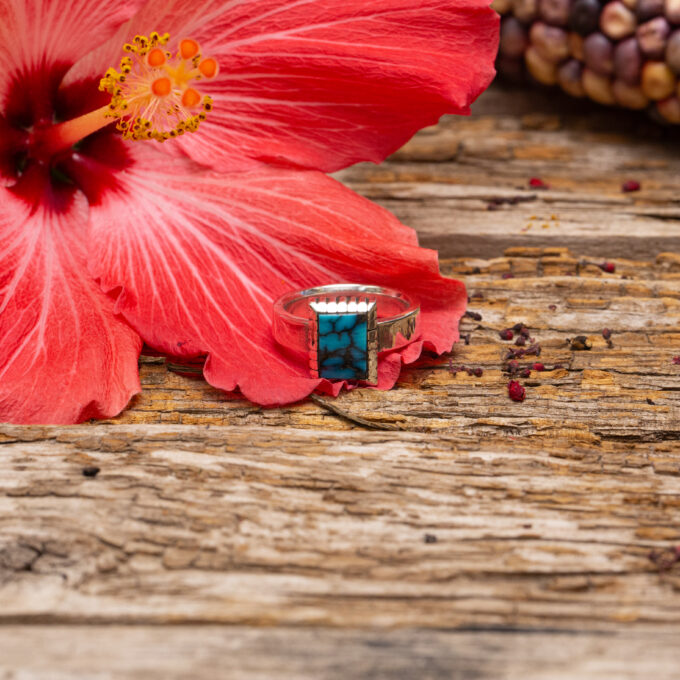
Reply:
[[[368,316],[318,314],[319,377],[366,380],[368,377]]]

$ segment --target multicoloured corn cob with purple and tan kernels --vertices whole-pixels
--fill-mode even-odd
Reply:
[[[497,67],[680,124],[680,0],[494,0]]]

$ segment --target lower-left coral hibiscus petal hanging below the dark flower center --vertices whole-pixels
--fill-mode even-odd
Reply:
[[[0,189],[0,421],[114,416],[140,389],[141,341],[87,272],[82,194],[30,184]]]

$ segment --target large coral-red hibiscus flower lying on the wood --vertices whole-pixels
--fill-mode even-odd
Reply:
[[[0,420],[119,413],[142,342],[207,354],[212,385],[259,404],[337,393],[272,337],[272,301],[312,285],[421,301],[381,388],[449,350],[464,286],[325,173],[469,112],[493,76],[486,5],[0,0]]]

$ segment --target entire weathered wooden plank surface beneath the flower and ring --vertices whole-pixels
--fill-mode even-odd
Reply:
[[[0,679],[675,680],[676,134],[496,88],[341,173],[482,317],[391,392],[260,409],[149,357],[113,421],[0,426]]]

